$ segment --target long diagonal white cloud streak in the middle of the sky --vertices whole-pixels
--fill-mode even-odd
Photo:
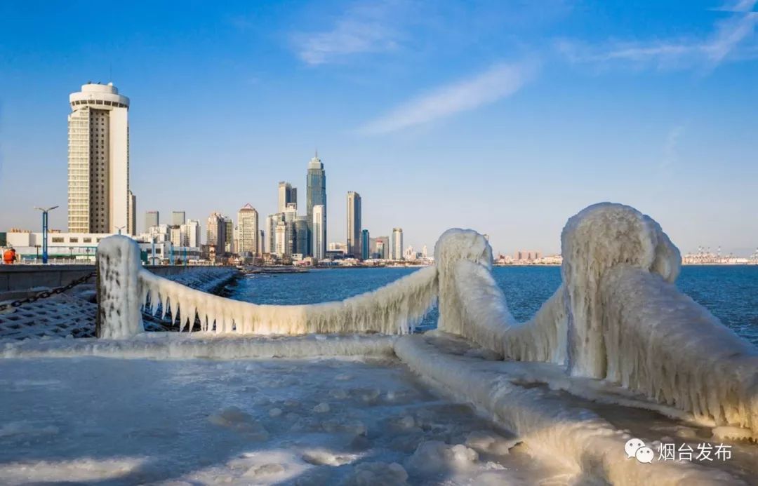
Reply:
[[[496,64],[458,83],[442,86],[406,103],[359,129],[364,134],[395,132],[473,110],[512,95],[534,76],[535,63]]]

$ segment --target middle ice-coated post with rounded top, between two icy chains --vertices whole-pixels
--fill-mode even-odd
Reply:
[[[464,308],[454,282],[456,263],[468,260],[492,269],[492,248],[487,238],[473,229],[448,229],[434,245],[434,265],[437,266],[439,282],[440,319],[437,329],[457,335],[465,335]],[[465,285],[465,282],[459,282]]]

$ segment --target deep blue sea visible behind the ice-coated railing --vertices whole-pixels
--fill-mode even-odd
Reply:
[[[251,275],[228,290],[232,298],[255,304],[314,304],[371,291],[413,271],[315,269],[309,273]],[[529,319],[561,281],[557,266],[498,266],[493,274],[519,321]],[[758,266],[684,266],[676,285],[738,335],[758,345]],[[434,326],[436,319],[436,312],[432,312],[421,326]]]

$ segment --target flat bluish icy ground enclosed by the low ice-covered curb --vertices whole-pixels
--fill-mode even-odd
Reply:
[[[0,483],[562,484],[395,359],[0,361]]]

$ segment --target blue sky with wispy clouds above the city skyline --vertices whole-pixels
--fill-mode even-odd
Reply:
[[[634,5],[629,5],[629,4]],[[716,2],[0,3],[0,229],[65,229],[67,96],[131,98],[145,210],[274,212],[315,148],[330,241],[490,234],[559,251],[568,217],[631,204],[682,251],[758,246],[758,8]]]

